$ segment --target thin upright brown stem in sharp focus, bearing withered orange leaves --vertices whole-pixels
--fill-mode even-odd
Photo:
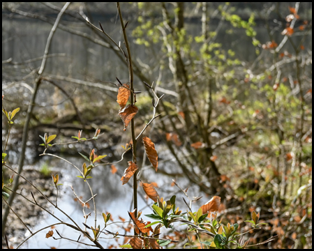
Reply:
[[[130,89],[134,91],[134,86],[133,86],[133,67],[132,67],[132,58],[130,55],[130,45],[128,44],[128,38],[126,36],[126,28],[124,26],[124,20],[122,18],[121,10],[120,10],[120,3],[117,2],[117,8],[119,12],[119,17],[120,17],[120,22],[121,22],[121,27],[122,31],[124,33],[124,42],[126,43],[126,50],[128,51],[128,74],[130,76]],[[130,96],[130,102],[132,105],[135,104],[135,94],[131,93]],[[135,127],[134,127],[134,118],[131,120],[131,133],[132,133],[132,142],[133,142],[133,162],[136,164],[136,139],[135,139]],[[137,173],[138,170],[133,174],[133,201],[134,201],[134,209],[135,209],[135,215],[137,215]],[[134,230],[134,234],[135,233]]]

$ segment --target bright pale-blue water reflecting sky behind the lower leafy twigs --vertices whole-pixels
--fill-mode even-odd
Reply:
[[[158,148],[158,145],[156,145],[157,150]],[[61,155],[61,157],[63,156]],[[68,160],[69,162],[72,162],[79,169],[82,167],[82,163],[84,162],[84,159],[80,157],[64,156],[64,158],[66,158],[66,160]],[[86,201],[91,197],[87,183],[84,183],[81,178],[77,178],[77,175],[80,174],[75,169],[75,167],[69,165],[63,160],[60,160],[59,158],[54,158],[52,156],[43,156],[38,162],[34,163],[32,167],[33,169],[40,169],[45,165],[49,165],[52,173],[58,173],[60,175],[59,183],[63,184],[59,186],[59,208],[61,208],[61,210],[68,214],[70,218],[72,218],[75,222],[77,222],[78,225],[80,225],[80,227],[83,228],[82,222],[84,222],[84,217],[82,212],[82,206],[79,201],[75,201],[75,196],[73,195],[73,191],[71,190],[70,186],[72,185],[77,196],[82,196],[82,200]],[[97,193],[97,196],[95,197],[97,208],[97,225],[99,224],[100,227],[103,227],[104,224],[102,213],[109,212],[111,213],[114,222],[120,223],[117,223],[116,225],[109,225],[106,228],[107,230],[113,232],[119,231],[120,234],[133,234],[133,230],[131,230],[130,233],[125,233],[124,230],[121,229],[121,226],[128,226],[128,221],[130,220],[128,216],[128,211],[133,210],[133,189],[131,188],[132,185],[128,185],[128,183],[126,185],[122,185],[120,181],[121,176],[124,173],[124,169],[126,169],[127,167],[126,160],[123,162],[119,162],[119,164],[115,166],[118,169],[116,174],[112,174],[110,165],[95,167],[91,172],[91,176],[93,176],[94,178],[89,179],[89,183],[93,192]],[[161,169],[167,169],[167,172],[178,171],[172,160],[160,160],[158,166]],[[172,195],[177,195],[177,206],[179,206],[180,209],[186,209],[186,205],[184,204],[184,201],[182,199],[182,197],[184,197],[183,193],[176,186],[172,187],[170,185],[172,183],[171,177],[165,176],[163,174],[158,174],[158,172],[156,174],[153,167],[148,165],[144,167],[144,173],[142,174],[141,179],[142,181],[149,183],[153,181],[156,182],[158,184],[158,188],[156,188],[156,190],[160,197],[170,199]],[[50,180],[49,182],[52,183],[52,181]],[[129,183],[133,184],[132,178],[130,179]],[[186,180],[186,178],[178,178],[177,183],[179,183],[184,189],[188,186],[188,181]],[[140,186],[138,188],[138,192],[140,194],[138,196],[138,208],[140,209],[140,211],[142,211],[141,217],[143,218],[143,220],[153,221],[152,219],[147,218],[144,215],[152,213],[150,206],[154,202],[151,201],[151,199],[148,199],[148,201],[147,199],[144,199],[144,191]],[[188,194],[190,195],[190,197],[196,197],[201,195],[196,186],[191,186],[188,190]],[[55,191],[54,195],[56,195]],[[188,201],[188,199],[186,200]],[[52,201],[55,201],[55,197],[54,199],[52,199]],[[205,202],[206,198],[200,199],[200,201],[197,201],[197,204],[193,205],[193,209],[197,210],[197,206],[201,206],[201,203]],[[87,219],[87,225],[94,226],[94,205],[91,201],[89,202],[89,204],[90,208],[85,208],[86,214],[91,212],[91,216],[89,216],[89,218]],[[38,210],[38,215],[39,211],[40,210]],[[56,210],[53,206],[50,206],[50,211],[52,211],[54,215],[57,216],[57,218],[60,218],[65,222],[72,223],[70,222],[70,220],[68,220],[68,218],[66,218],[65,215],[63,215],[63,213]],[[124,218],[126,222],[121,222],[119,217]],[[38,222],[36,223],[36,226],[31,228],[32,231],[37,231],[38,229],[59,222],[54,217],[52,217],[52,215],[46,212],[43,212],[43,215],[40,214],[37,220]],[[66,238],[77,240],[77,238],[80,236],[79,232],[63,225],[57,225],[55,229],[57,229],[59,234]],[[55,229],[52,229],[54,231],[54,237],[58,238],[59,236],[57,235]],[[31,237],[29,241],[27,241],[27,243],[24,243],[21,248],[93,248],[86,247],[85,245],[75,242],[67,241],[65,239],[56,241],[53,238],[45,238],[45,234],[47,234],[47,232],[50,230],[51,229],[48,228],[40,231],[35,236]],[[165,231],[165,229],[163,231]],[[89,232],[91,234],[91,230],[89,230]],[[24,236],[25,238],[27,238],[29,236],[29,232],[26,231]],[[117,244],[117,241],[110,239],[110,236],[105,236],[104,234],[101,234],[100,236],[105,237],[100,239],[100,244],[103,245],[104,248],[107,248],[112,244]],[[123,239],[123,237],[119,239],[118,243],[120,245],[123,244]],[[80,241],[86,241],[87,243],[90,243],[86,238],[81,238]]]

